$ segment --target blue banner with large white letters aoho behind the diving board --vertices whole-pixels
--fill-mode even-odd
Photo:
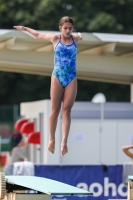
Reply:
[[[57,180],[93,193],[84,200],[127,199],[127,186],[122,183],[122,165],[116,166],[35,166],[35,175]],[[53,196],[53,200],[80,200],[81,197]]]

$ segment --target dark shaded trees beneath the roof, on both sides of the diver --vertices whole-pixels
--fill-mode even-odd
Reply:
[[[0,72],[0,104],[50,99],[50,77]],[[130,101],[130,86],[78,80],[76,101],[91,101],[96,93],[105,94],[107,101]]]

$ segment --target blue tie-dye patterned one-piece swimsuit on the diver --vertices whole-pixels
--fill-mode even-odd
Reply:
[[[72,37],[72,36],[71,36]],[[61,35],[54,50],[53,75],[65,88],[76,77],[77,45],[72,37],[72,44],[61,43]]]

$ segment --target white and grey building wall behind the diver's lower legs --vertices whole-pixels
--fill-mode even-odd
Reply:
[[[61,113],[56,129],[55,154],[47,150],[50,110],[50,100],[21,103],[21,116],[35,120],[36,131],[41,131],[40,147],[30,145],[31,161],[48,165],[115,165],[130,161],[121,147],[132,142],[133,104],[106,103],[101,107],[101,104],[75,102],[68,138],[69,152],[63,157],[60,156]]]

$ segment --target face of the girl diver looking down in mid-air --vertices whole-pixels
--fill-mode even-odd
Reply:
[[[59,29],[64,37],[70,37],[73,31],[73,25],[69,22],[65,22],[62,26],[59,26]]]

